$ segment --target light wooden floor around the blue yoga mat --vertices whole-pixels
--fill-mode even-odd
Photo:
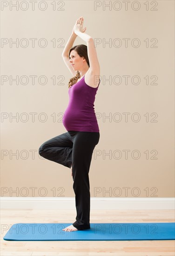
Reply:
[[[74,210],[1,209],[1,227],[14,223],[73,223]],[[90,222],[175,222],[174,210],[91,210]],[[3,226],[4,227],[4,226]],[[9,228],[8,228],[9,229]],[[7,229],[7,230],[8,230]],[[175,256],[175,241],[5,241],[0,256]],[[76,232],[76,231],[74,231]]]

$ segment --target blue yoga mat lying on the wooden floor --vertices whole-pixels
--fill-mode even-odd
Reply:
[[[72,223],[16,223],[4,240],[10,241],[114,241],[175,240],[175,222],[90,223],[90,229],[63,231]]]

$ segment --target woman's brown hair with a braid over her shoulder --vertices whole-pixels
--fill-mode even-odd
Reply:
[[[69,59],[70,59],[70,52],[72,50],[75,50],[80,57],[84,57],[85,60],[88,63],[88,66],[89,66],[88,48],[87,48],[86,45],[79,44],[79,45],[75,45],[74,47],[70,48],[70,50],[69,50]],[[75,84],[79,78],[80,78],[80,72],[77,70],[77,74],[70,79],[70,81],[68,83],[68,88],[70,88],[73,84]]]

